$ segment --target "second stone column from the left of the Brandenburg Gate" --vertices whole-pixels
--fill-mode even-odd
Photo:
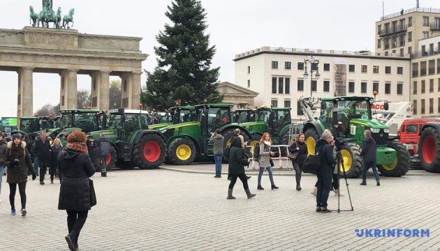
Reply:
[[[60,109],[82,109],[82,107],[78,107],[77,105],[77,73],[78,70],[71,69],[61,71]]]

